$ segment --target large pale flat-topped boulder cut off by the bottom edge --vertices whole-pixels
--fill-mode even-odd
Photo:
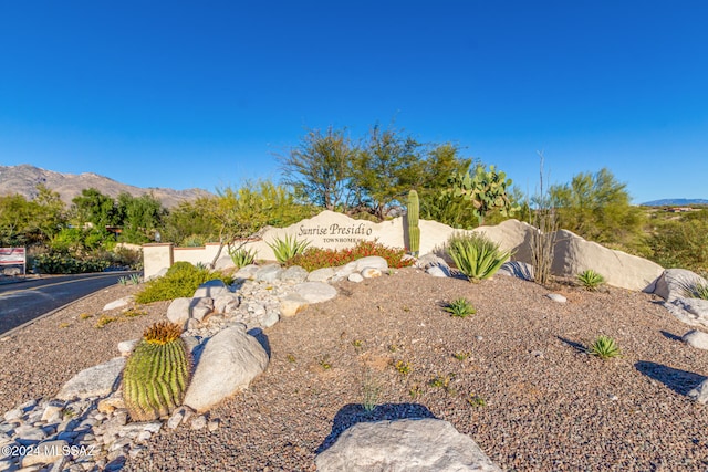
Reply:
[[[315,457],[317,471],[501,471],[468,436],[434,418],[358,423]]]

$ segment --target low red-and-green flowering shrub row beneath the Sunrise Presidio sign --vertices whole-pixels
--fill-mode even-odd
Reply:
[[[399,269],[413,265],[412,258],[406,258],[405,249],[388,248],[376,241],[360,241],[351,249],[320,249],[309,248],[304,253],[298,254],[288,261],[288,265],[300,265],[306,271],[314,271],[322,268],[336,268],[347,262],[355,261],[368,255],[384,258],[389,268]]]

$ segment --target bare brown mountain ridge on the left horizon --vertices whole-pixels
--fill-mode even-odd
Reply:
[[[117,182],[97,174],[61,174],[52,170],[23,164],[21,166],[0,166],[0,195],[20,193],[27,199],[37,196],[37,185],[43,183],[49,189],[58,192],[67,204],[81,195],[81,190],[96,188],[101,193],[116,198],[119,193],[131,193],[139,197],[144,193],[153,193],[165,208],[171,208],[181,201],[196,200],[207,197],[209,193],[201,189],[173,190],[166,188],[139,188]]]

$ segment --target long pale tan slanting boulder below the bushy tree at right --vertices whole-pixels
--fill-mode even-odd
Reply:
[[[654,291],[655,281],[664,272],[655,262],[585,241],[566,230],[558,231],[553,274],[574,277],[587,269],[602,274],[607,285],[645,292]]]

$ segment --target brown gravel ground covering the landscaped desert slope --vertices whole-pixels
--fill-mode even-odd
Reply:
[[[264,331],[271,363],[210,412],[218,430],[163,430],[125,470],[309,471],[347,427],[404,417],[450,421],[507,471],[708,469],[708,415],[686,397],[708,353],[681,343],[690,327],[649,295],[559,285],[569,302],[558,304],[517,279],[471,284],[415,269],[336,286],[335,300]],[[165,313],[153,304],[104,328],[80,319],[132,290],[108,289],[0,343],[4,410],[53,395]],[[477,314],[440,307],[462,296]],[[584,353],[601,334],[622,357]]]

